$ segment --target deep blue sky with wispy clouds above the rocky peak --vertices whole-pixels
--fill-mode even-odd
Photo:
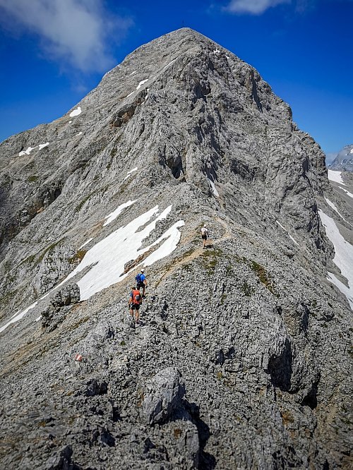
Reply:
[[[324,152],[353,143],[353,0],[0,0],[0,141],[183,25],[254,66]]]

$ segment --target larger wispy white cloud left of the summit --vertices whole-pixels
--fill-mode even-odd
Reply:
[[[86,72],[114,64],[111,44],[132,23],[108,13],[104,0],[0,0],[0,18],[8,30],[37,35],[50,59]]]

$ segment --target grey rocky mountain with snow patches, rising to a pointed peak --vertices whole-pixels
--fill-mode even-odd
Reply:
[[[171,32],[0,170],[1,468],[352,468],[353,180],[254,68]]]

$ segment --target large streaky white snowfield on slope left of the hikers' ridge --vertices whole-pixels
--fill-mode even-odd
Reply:
[[[125,207],[128,207],[134,202],[135,201],[130,200],[127,203],[119,205],[112,214],[105,217],[109,220],[108,223],[116,219]],[[154,243],[151,243],[150,246],[140,249],[143,240],[150,235],[152,230],[155,229],[157,221],[167,219],[171,210],[172,205],[169,205],[161,214],[159,214],[158,205],[156,205],[155,207],[152,207],[152,209],[148,210],[148,212],[145,212],[144,214],[136,217],[136,219],[133,219],[126,226],[119,227],[119,229],[113,231],[112,234],[96,243],[95,246],[92,246],[76,269],[73,270],[64,279],[64,281],[54,287],[54,289],[47,292],[47,294],[44,294],[39,301],[51,294],[52,291],[61,287],[69,279],[84,270],[85,267],[90,267],[90,270],[77,282],[78,287],[80,287],[81,301],[87,300],[90,296],[102,291],[102,289],[106,289],[107,287],[112,286],[112,284],[116,284],[116,282],[120,282],[125,279],[129,274],[127,272],[124,275],[125,263],[130,260],[135,260],[139,255],[149,251],[153,246],[157,246],[161,243],[155,251],[145,258],[143,261],[144,266],[150,266],[157,260],[161,260],[172,253],[179,243],[181,237],[179,228],[185,225],[184,220],[179,220],[173,224],[172,227],[169,227],[169,229],[167,229]],[[155,219],[152,219],[153,217],[155,217]],[[148,224],[151,219],[152,221]],[[144,228],[138,231],[140,227]],[[89,241],[90,240],[85,242],[84,245]],[[164,242],[162,243],[162,241]],[[32,308],[37,305],[37,302],[38,301],[32,303],[32,305],[25,308],[24,311],[15,313],[5,325],[0,327],[0,332],[4,331],[9,325],[11,325],[11,323],[15,323],[23,318],[28,311],[32,310]],[[36,320],[38,320],[38,318]]]

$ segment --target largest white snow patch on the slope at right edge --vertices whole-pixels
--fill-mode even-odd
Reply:
[[[343,238],[331,217],[326,215],[321,209],[318,210],[318,215],[320,215],[328,239],[330,239],[335,248],[333,263],[340,268],[342,276],[347,279],[348,287],[342,284],[332,273],[328,273],[329,279],[340,289],[342,294],[345,294],[353,310],[353,246]]]

